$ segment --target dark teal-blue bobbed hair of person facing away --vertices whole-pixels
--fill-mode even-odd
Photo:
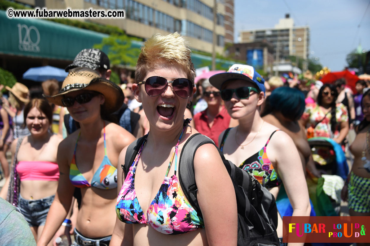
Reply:
[[[305,111],[305,95],[297,89],[279,87],[269,96],[271,111],[281,112],[292,121],[299,120]]]

